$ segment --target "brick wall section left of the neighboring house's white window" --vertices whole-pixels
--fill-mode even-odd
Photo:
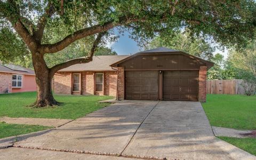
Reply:
[[[5,93],[6,89],[12,92],[12,74],[0,72],[0,93]]]

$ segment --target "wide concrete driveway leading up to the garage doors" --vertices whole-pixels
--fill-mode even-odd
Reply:
[[[120,158],[256,159],[214,137],[201,103],[180,101],[121,101],[14,147]],[[0,150],[0,159],[12,151]]]

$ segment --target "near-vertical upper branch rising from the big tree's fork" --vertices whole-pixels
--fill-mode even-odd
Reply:
[[[47,4],[47,7],[45,9],[45,13],[39,18],[37,25],[36,25],[36,32],[35,32],[35,39],[36,41],[41,44],[43,34],[44,34],[44,28],[47,22],[47,18],[50,18],[54,14],[54,7],[53,5],[49,2]]]

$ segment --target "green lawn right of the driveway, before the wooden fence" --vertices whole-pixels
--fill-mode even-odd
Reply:
[[[256,96],[207,94],[202,103],[212,126],[240,130],[256,129]]]

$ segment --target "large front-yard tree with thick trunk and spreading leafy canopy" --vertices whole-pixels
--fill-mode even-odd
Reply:
[[[128,29],[132,38],[143,41],[155,36],[173,35],[180,29],[190,36],[212,36],[222,45],[242,45],[254,37],[256,5],[253,0],[240,1],[63,1],[0,0],[0,29],[15,35],[0,39],[2,55],[30,52],[36,73],[36,107],[58,105],[51,92],[54,73],[76,63],[87,63],[102,38],[111,37],[111,30]],[[7,42],[7,41],[10,42]],[[85,58],[69,60],[53,67],[46,65],[46,54],[58,53],[79,41],[88,42]],[[4,43],[7,42],[7,43]],[[22,42],[22,43],[21,43]],[[5,47],[7,46],[7,47]],[[12,55],[10,57],[15,57]],[[4,56],[9,57],[9,56]]]

